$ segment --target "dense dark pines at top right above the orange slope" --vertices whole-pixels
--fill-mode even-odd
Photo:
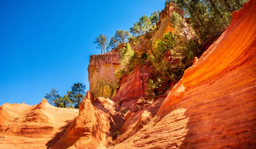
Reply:
[[[172,1],[172,0],[170,0]],[[219,36],[232,19],[232,11],[248,0],[177,0],[201,41]],[[168,1],[169,2],[169,1]]]

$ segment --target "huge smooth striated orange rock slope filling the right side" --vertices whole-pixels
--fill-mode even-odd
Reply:
[[[114,148],[256,147],[256,1],[173,87],[156,116]]]

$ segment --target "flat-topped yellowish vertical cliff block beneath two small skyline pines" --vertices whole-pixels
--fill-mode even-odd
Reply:
[[[95,97],[111,99],[115,96],[120,80],[114,75],[114,72],[120,69],[119,59],[120,54],[117,50],[101,55],[91,55],[88,79],[90,91],[93,92]]]

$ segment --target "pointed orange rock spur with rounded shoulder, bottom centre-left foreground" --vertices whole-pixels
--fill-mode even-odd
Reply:
[[[112,100],[98,97],[88,91],[80,105],[79,115],[53,145],[60,148],[107,148],[113,146],[114,133],[124,121],[121,109]]]

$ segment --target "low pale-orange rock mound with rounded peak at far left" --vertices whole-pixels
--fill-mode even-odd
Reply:
[[[38,105],[0,107],[0,148],[50,148],[78,115],[78,109],[57,108],[46,99]]]

